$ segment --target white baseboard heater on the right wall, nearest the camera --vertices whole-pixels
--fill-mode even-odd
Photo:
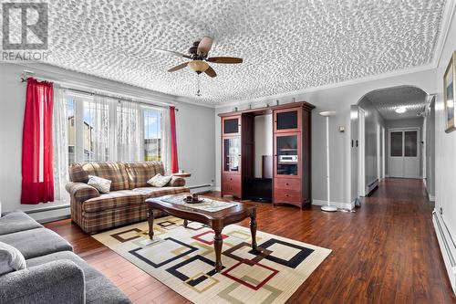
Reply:
[[[450,278],[451,288],[456,294],[456,245],[443,217],[436,210],[432,212],[432,223],[439,241],[441,256],[447,268],[448,278]]]

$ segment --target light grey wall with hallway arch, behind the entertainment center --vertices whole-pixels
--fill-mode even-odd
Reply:
[[[398,72],[399,73],[399,72]],[[398,76],[382,76],[385,78],[363,79],[340,83],[336,88],[316,88],[292,92],[279,98],[281,103],[307,101],[316,106],[312,111],[312,198],[326,200],[326,155],[325,151],[325,119],[318,115],[322,110],[336,110],[337,115],[329,121],[329,142],[331,145],[331,200],[338,203],[351,203],[351,160],[350,160],[350,105],[357,104],[369,91],[386,89],[400,85],[416,86],[427,93],[436,91],[435,70],[426,69]],[[253,108],[275,103],[276,98],[254,100]],[[216,109],[216,113],[233,111],[235,106],[240,110],[248,108],[248,104],[230,103]],[[216,185],[220,187],[220,117],[215,116],[215,168]],[[345,132],[339,132],[338,126],[345,126]]]

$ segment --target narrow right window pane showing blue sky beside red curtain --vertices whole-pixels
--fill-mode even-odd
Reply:
[[[161,110],[143,108],[144,161],[161,161]]]

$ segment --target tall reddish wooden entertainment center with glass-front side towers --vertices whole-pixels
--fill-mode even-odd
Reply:
[[[245,198],[254,177],[254,118],[273,115],[272,202],[302,208],[311,200],[311,110],[305,101],[222,113],[222,195]]]

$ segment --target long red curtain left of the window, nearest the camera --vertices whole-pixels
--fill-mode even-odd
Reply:
[[[26,112],[22,135],[21,204],[54,201],[52,166],[53,86],[27,80]]]

